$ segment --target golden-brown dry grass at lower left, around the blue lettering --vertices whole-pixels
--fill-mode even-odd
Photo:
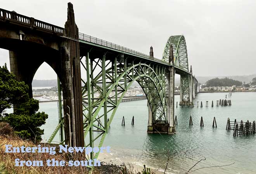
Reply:
[[[12,128],[9,125],[3,125],[0,123],[0,174],[88,174],[87,167],[48,167],[46,165],[47,159],[55,158],[55,160],[65,160],[66,164],[69,158],[72,160],[80,159],[86,160],[85,157],[76,156],[69,157],[67,153],[56,153],[55,155],[50,155],[49,153],[5,153],[5,145],[12,146],[36,146],[33,142],[29,140],[22,140],[18,136],[14,135]],[[41,144],[41,146],[48,146],[47,144]],[[15,166],[15,159],[20,160],[42,160],[42,167],[17,167]],[[93,174],[99,174],[100,172],[95,169]]]

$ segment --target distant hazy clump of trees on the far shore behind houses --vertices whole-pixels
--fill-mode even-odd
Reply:
[[[232,85],[240,86],[240,85],[242,85],[242,82],[233,80],[230,78],[223,78],[223,79],[214,78],[214,79],[210,79],[206,82],[206,87],[209,87],[209,86],[232,86]]]

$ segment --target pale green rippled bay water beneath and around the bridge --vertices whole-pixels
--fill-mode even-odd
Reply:
[[[158,168],[171,158],[168,165],[169,173],[185,173],[200,159],[202,160],[192,170],[235,164],[225,167],[213,167],[197,170],[192,173],[206,174],[255,174],[256,169],[256,137],[255,135],[233,137],[233,130],[226,131],[227,118],[230,121],[256,120],[256,93],[232,93],[228,99],[232,106],[215,107],[216,100],[225,99],[226,93],[199,93],[194,108],[176,108],[178,126],[175,135],[147,134],[148,109],[147,101],[124,102],[119,105],[112,121],[111,129],[104,141],[104,146],[111,146],[113,161],[130,162],[137,165],[146,164]],[[211,101],[214,107],[211,107]],[[197,108],[196,102],[202,101],[203,108]],[[205,107],[209,101],[209,107]],[[49,118],[42,127],[45,129],[44,139],[47,139],[58,122],[57,102],[40,103],[40,111],[45,111]],[[131,126],[132,116],[135,125]],[[189,126],[189,116],[192,115],[193,126]],[[125,116],[126,126],[122,127],[122,117]],[[204,127],[200,127],[201,116]],[[216,118],[217,128],[213,128],[213,117]],[[54,140],[58,141],[58,140]],[[195,149],[196,148],[196,149]],[[177,156],[177,154],[179,154]],[[163,167],[164,168],[164,167]]]

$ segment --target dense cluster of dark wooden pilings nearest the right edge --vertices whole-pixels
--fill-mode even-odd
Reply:
[[[251,124],[251,122],[247,120],[247,122],[244,124],[244,122],[241,120],[239,124],[237,119],[235,119],[235,121],[230,121],[228,118],[226,130],[234,130],[233,136],[249,135],[256,133],[256,125],[255,121],[253,121],[253,124]]]

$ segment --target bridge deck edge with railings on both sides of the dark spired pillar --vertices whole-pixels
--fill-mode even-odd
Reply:
[[[57,36],[66,36],[65,28],[34,19],[33,17],[24,16],[24,15],[14,12],[14,11],[0,9],[0,21],[8,22],[10,24],[18,25],[21,27],[31,28],[31,29],[41,31],[44,33],[55,34]],[[157,59],[155,57],[151,57],[144,53],[141,53],[141,52],[138,52],[135,50],[131,50],[130,48],[116,45],[115,43],[111,43],[111,42],[108,42],[108,41],[105,41],[105,40],[102,40],[99,38],[95,38],[95,37],[89,36],[87,34],[79,33],[79,41],[80,41],[80,43],[105,48],[108,50],[112,50],[114,52],[125,53],[125,54],[132,55],[132,56],[135,56],[135,57],[138,57],[141,59],[146,59],[146,60],[149,60],[152,62],[157,62],[157,63],[163,64],[163,65],[173,66],[171,63],[166,62],[164,60]],[[175,66],[175,68],[176,68],[176,74],[190,74],[190,72],[188,72],[185,69],[182,69],[181,67]]]

